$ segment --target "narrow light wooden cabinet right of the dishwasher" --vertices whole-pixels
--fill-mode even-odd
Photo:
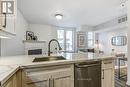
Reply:
[[[114,87],[114,61],[102,61],[102,87]]]

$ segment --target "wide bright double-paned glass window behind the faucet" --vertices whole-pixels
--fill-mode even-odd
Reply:
[[[58,41],[65,51],[74,51],[74,29],[58,29]]]

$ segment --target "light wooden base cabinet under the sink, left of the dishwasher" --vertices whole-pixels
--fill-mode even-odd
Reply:
[[[22,87],[74,87],[73,65],[26,69]]]

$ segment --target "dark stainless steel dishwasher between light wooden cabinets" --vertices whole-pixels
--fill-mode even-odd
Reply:
[[[101,61],[75,64],[75,87],[101,87]]]

